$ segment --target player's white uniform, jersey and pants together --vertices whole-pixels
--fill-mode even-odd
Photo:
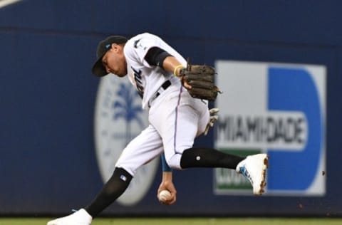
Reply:
[[[128,78],[142,97],[142,108],[149,110],[148,127],[125,147],[115,164],[115,167],[121,167],[133,176],[138,167],[163,151],[167,164],[181,169],[182,152],[192,147],[195,137],[204,131],[209,122],[207,101],[192,98],[179,78],[145,61],[146,53],[152,47],[167,51],[183,66],[187,63],[175,49],[150,33],[139,34],[125,44]],[[167,80],[170,85],[166,89],[161,88]],[[155,98],[157,92],[159,94]]]

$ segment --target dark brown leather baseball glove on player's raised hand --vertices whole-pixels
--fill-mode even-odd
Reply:
[[[217,93],[221,93],[219,88],[214,85],[215,69],[206,65],[190,65],[180,70],[182,83],[185,81],[192,86],[187,89],[192,98],[205,100],[216,100]]]

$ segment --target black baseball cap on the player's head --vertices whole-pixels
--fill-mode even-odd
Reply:
[[[98,59],[95,61],[91,72],[98,77],[107,75],[108,73],[102,63],[102,57],[105,56],[105,53],[112,47],[112,43],[120,45],[120,43],[126,43],[127,41],[128,38],[123,36],[109,36],[108,38],[105,38],[105,40],[100,41],[100,43],[98,43],[98,50],[96,51]]]

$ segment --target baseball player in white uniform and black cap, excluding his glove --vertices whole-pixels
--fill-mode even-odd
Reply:
[[[148,110],[149,125],[125,147],[112,177],[93,202],[71,215],[49,221],[48,225],[91,224],[95,216],[125,192],[137,169],[161,154],[172,169],[236,169],[249,179],[254,194],[264,192],[268,155],[239,157],[212,148],[192,147],[195,137],[212,125],[213,117],[207,100],[192,98],[189,94],[192,85],[182,74],[189,65],[174,48],[150,33],[130,39],[110,36],[98,44],[97,57],[93,74],[127,77],[142,98],[142,108]],[[163,173],[158,192],[162,189],[172,192],[167,204],[173,204],[172,172]]]

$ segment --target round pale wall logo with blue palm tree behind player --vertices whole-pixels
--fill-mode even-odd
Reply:
[[[147,112],[128,79],[106,75],[101,78],[95,104],[95,151],[103,182],[113,174],[115,162],[125,146],[147,127]],[[155,177],[159,159],[140,167],[118,203],[140,202]],[[142,179],[143,178],[143,179]]]

